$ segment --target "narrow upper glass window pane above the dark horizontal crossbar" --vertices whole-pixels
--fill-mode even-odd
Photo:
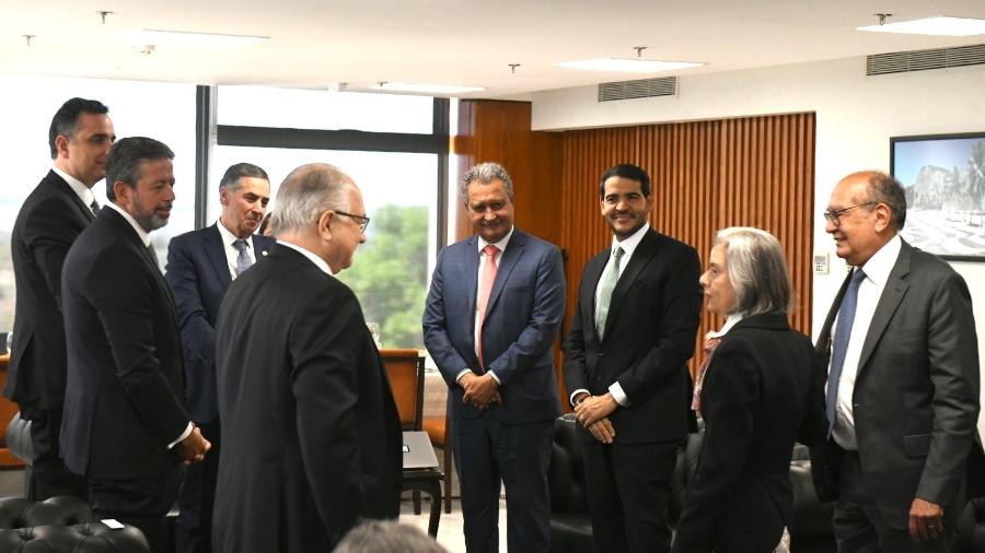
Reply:
[[[430,134],[433,98],[396,94],[219,86],[219,125]]]

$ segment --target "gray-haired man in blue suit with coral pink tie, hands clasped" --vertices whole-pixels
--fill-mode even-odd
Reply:
[[[499,551],[499,482],[510,552],[548,550],[547,466],[560,412],[552,344],[565,311],[556,246],[513,227],[513,185],[495,163],[462,181],[475,235],[431,276],[425,345],[448,383],[465,546]]]

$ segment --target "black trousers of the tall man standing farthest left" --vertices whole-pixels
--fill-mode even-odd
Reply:
[[[69,471],[58,452],[61,410],[22,408],[21,415],[31,421],[31,443],[34,447],[27,497],[44,501],[56,495],[71,495],[88,501],[85,479]]]

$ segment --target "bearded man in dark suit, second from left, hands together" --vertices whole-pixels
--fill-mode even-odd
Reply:
[[[139,528],[164,546],[177,460],[209,443],[182,407],[182,342],[171,291],[150,248],[174,201],[174,154],[148,138],[116,143],[106,162],[111,203],[72,245],[61,282],[68,370],[61,450],[89,481],[99,518]]]

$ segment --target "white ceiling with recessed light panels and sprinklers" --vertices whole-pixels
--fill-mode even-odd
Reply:
[[[99,11],[112,11],[105,24]],[[476,85],[506,97],[650,75],[575,71],[599,57],[703,61],[711,71],[985,43],[861,33],[893,21],[985,19],[983,0],[0,0],[0,72],[366,90]],[[235,49],[155,45],[143,28],[269,36]],[[35,35],[31,45],[22,35]],[[515,74],[510,63],[521,63]]]

